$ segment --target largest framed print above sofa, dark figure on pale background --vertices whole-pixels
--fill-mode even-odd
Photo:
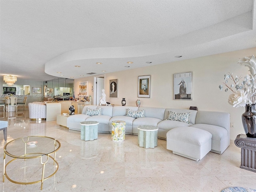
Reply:
[[[174,100],[192,100],[192,72],[173,75]]]

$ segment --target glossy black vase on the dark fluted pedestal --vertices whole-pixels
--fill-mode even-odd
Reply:
[[[242,114],[242,124],[247,137],[256,138],[256,111],[255,104],[245,106]]]

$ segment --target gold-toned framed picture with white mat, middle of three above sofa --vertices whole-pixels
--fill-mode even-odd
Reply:
[[[150,75],[138,76],[138,97],[150,98]]]

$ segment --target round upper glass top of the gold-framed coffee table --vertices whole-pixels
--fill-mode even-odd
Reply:
[[[4,153],[14,158],[36,158],[52,154],[60,148],[60,142],[46,136],[26,136],[14,139],[4,146]]]

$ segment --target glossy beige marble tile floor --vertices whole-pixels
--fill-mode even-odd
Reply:
[[[14,112],[15,113],[15,112]],[[20,112],[19,112],[20,113]],[[256,189],[256,173],[239,168],[240,148],[234,140],[222,154],[209,152],[196,162],[172,154],[166,140],[145,149],[138,146],[138,136],[126,134],[124,142],[112,142],[111,134],[98,134],[93,141],[80,140],[80,132],[59,126],[56,121],[33,122],[24,116],[11,118],[0,112],[0,120],[8,120],[8,141],[23,136],[49,136],[61,143],[56,153],[58,172],[44,181],[43,192],[220,192],[229,186]],[[2,175],[4,136],[0,132],[0,174]],[[8,142],[7,141],[7,142]],[[10,160],[6,157],[6,162]],[[51,162],[46,174],[54,171]],[[25,171],[26,170],[26,171]],[[31,181],[41,175],[38,160],[14,161],[8,175]],[[22,185],[0,180],[3,192],[40,192],[40,183]]]

